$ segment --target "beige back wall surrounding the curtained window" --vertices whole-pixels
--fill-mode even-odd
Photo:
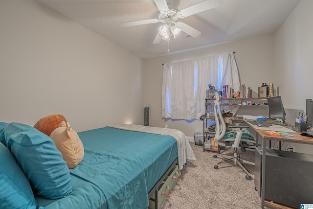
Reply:
[[[164,48],[164,50],[166,50],[166,48]],[[164,127],[165,124],[168,124],[169,128],[178,129],[187,137],[193,137],[194,131],[202,130],[203,123],[201,120],[167,120],[161,117],[162,63],[176,62],[232,51],[235,51],[241,84],[246,84],[247,87],[251,87],[254,91],[254,96],[257,97],[258,87],[260,87],[262,83],[274,83],[275,85],[275,79],[271,76],[274,70],[273,34],[146,59],[144,61],[144,105],[150,107],[150,125]],[[203,95],[203,102],[204,97],[205,95]]]

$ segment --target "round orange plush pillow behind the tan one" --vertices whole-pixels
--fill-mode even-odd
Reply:
[[[64,116],[59,114],[49,115],[38,120],[34,128],[50,136],[51,132],[58,128],[62,121],[67,124],[67,119]]]

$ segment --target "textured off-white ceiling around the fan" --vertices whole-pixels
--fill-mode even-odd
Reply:
[[[158,27],[151,23],[123,27],[121,23],[157,19],[153,0],[37,0],[142,58],[274,33],[300,0],[223,0],[219,7],[179,19],[202,32],[198,38],[171,38],[153,44]],[[203,0],[173,0],[179,10]]]

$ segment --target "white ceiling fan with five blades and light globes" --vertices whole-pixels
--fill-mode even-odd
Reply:
[[[174,38],[178,37],[180,32],[183,31],[188,35],[197,38],[202,33],[195,28],[189,26],[183,22],[176,22],[179,18],[185,18],[190,15],[194,15],[214,7],[218,7],[222,4],[223,0],[203,0],[197,4],[189,6],[185,9],[178,10],[175,6],[173,6],[173,0],[154,0],[156,6],[160,13],[158,14],[158,19],[150,19],[150,20],[140,20],[140,21],[132,21],[121,23],[122,26],[134,26],[141,24],[150,24],[150,23],[164,23],[156,34],[156,38],[153,44],[160,43],[161,39],[169,41],[170,37]]]

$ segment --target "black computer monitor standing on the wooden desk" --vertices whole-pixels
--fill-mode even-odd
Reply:
[[[280,96],[268,97],[268,111],[269,117],[274,117],[283,121],[282,123],[279,123],[279,125],[287,125],[285,122],[286,112]]]

